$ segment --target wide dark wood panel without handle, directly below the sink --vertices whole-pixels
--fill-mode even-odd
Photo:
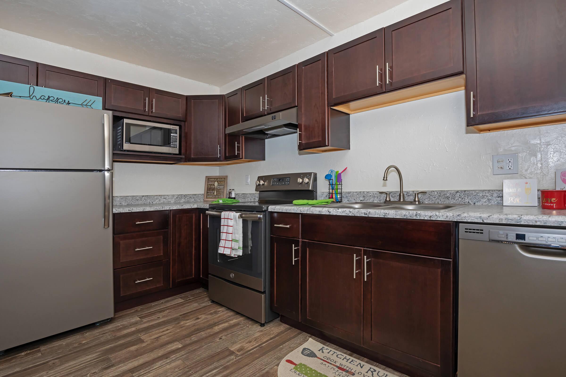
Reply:
[[[303,239],[389,252],[453,257],[453,222],[303,214]]]

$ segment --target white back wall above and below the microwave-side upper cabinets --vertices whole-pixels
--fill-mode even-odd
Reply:
[[[218,94],[218,87],[72,47],[0,29],[0,54],[182,94]],[[217,167],[114,163],[114,195],[198,194]]]

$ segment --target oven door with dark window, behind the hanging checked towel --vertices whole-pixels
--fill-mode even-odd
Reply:
[[[218,253],[222,211],[207,211],[208,215],[208,272],[219,278],[265,291],[265,244],[267,220],[263,212],[234,211],[242,216],[242,255],[230,257]]]

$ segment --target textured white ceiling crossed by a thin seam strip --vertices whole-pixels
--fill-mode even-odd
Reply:
[[[290,0],[335,33],[404,1]],[[328,37],[277,0],[0,0],[0,28],[217,86]]]

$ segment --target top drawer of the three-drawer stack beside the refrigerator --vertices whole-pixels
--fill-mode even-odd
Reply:
[[[169,211],[114,214],[114,234],[156,231],[169,228]]]

